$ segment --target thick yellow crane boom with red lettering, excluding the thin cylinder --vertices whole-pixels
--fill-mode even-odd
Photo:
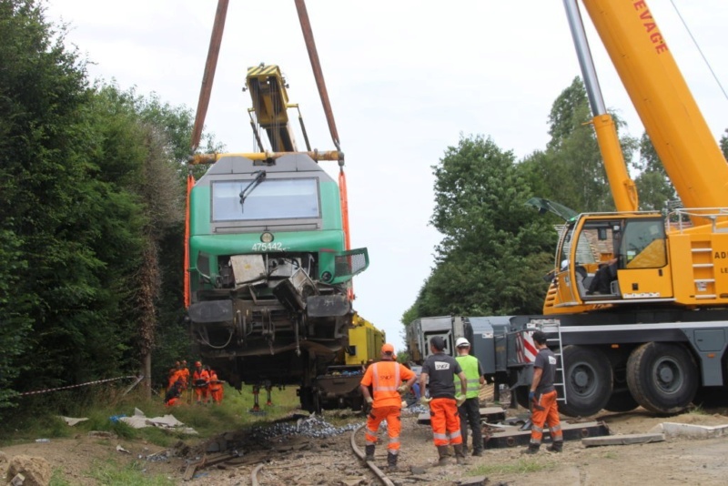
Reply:
[[[582,0],[686,208],[728,206],[728,165],[644,0]]]

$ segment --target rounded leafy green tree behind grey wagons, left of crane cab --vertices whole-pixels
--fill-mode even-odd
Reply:
[[[431,224],[444,235],[436,268],[406,313],[491,315],[536,312],[555,233],[523,203],[531,187],[512,152],[483,137],[461,137],[433,167]]]

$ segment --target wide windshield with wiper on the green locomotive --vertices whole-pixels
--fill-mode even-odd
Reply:
[[[265,179],[248,191],[243,203],[240,193],[249,184],[249,180],[212,183],[213,221],[319,218],[315,178]]]

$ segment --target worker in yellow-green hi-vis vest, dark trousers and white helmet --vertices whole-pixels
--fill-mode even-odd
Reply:
[[[470,341],[465,338],[458,338],[455,341],[458,349],[458,356],[455,358],[465,373],[468,380],[465,402],[458,407],[460,414],[460,433],[462,433],[462,449],[468,451],[468,426],[472,429],[472,455],[481,456],[483,452],[483,436],[480,430],[480,400],[478,395],[480,387],[485,384],[483,378],[483,367],[480,359],[470,355]],[[460,393],[456,395],[460,398]]]

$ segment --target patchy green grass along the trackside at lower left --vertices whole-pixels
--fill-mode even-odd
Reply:
[[[237,430],[253,422],[272,422],[287,416],[298,407],[296,388],[284,390],[275,389],[272,392],[274,406],[264,405],[267,399],[266,391],[259,395],[261,414],[252,414],[248,410],[253,408],[254,397],[251,387],[242,392],[225,388],[223,403],[217,405],[199,406],[192,403],[165,407],[159,394],[147,399],[140,392],[121,396],[121,390],[100,390],[94,400],[74,400],[72,396],[59,397],[57,400],[45,403],[28,403],[25,407],[13,410],[15,413],[8,420],[0,420],[0,446],[14,443],[31,442],[39,438],[63,439],[75,435],[86,435],[91,430],[108,431],[117,437],[126,440],[146,440],[160,447],[170,447],[179,440],[194,445],[207,440],[219,433]],[[49,405],[51,403],[52,405]],[[122,421],[111,420],[118,415],[132,416],[135,409],[142,410],[147,417],[159,417],[167,414],[183,422],[188,427],[197,430],[197,435],[184,434],[174,430],[164,430],[156,427],[134,429]],[[88,420],[79,422],[70,427],[60,415],[70,417],[83,417]],[[105,448],[113,448],[116,440],[100,438],[98,444]],[[167,486],[175,482],[164,474],[149,474],[145,471],[145,461],[130,461],[123,463],[115,460],[93,461],[85,471],[86,476],[95,479],[99,484],[108,486],[139,484],[147,486]],[[63,468],[53,470],[49,486],[70,486],[72,482],[66,480]]]

